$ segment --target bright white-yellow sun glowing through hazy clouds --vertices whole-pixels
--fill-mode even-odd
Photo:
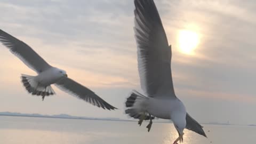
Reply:
[[[199,43],[199,36],[195,31],[180,30],[179,47],[182,53],[193,54],[198,43]]]

